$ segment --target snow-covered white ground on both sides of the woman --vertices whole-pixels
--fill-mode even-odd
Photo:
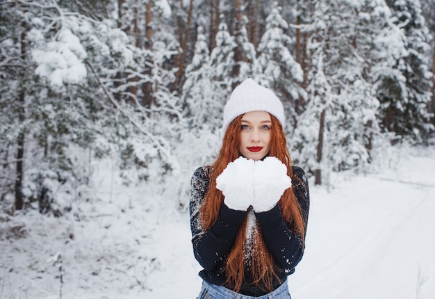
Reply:
[[[435,298],[435,150],[396,150],[378,166],[311,185],[293,299]],[[75,216],[0,214],[0,299],[196,298],[188,214],[107,180]]]

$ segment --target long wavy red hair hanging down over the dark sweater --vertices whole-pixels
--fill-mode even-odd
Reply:
[[[274,118],[273,115],[270,116],[272,120],[272,136],[270,152],[268,155],[275,156],[282,163],[286,164],[287,175],[292,179],[297,179],[293,178],[290,153],[288,152],[284,130],[281,123]],[[235,120],[233,120],[233,122],[231,122],[231,124],[229,124],[222,141],[220,152],[216,161],[212,165],[213,172],[211,173],[204,204],[202,204],[199,212],[201,225],[204,230],[210,229],[210,227],[215,223],[224,201],[224,195],[216,188],[216,177],[222,173],[229,162],[234,161],[240,156],[239,147],[242,117],[243,115],[239,115]],[[302,241],[304,241],[304,221],[302,219],[302,213],[299,204],[297,203],[295,193],[293,193],[293,188],[288,188],[284,192],[284,195],[282,195],[279,200],[279,206],[281,207],[282,216],[288,224],[288,227],[290,227],[295,234],[301,236]],[[267,291],[272,291],[272,278],[278,277],[277,269],[272,266],[272,254],[269,252],[265,242],[263,241],[261,229],[258,225],[256,225],[256,233],[252,240],[252,252],[249,254],[249,260],[245,260],[245,244],[249,241],[247,240],[247,226],[249,225],[248,216],[249,213],[245,220],[243,220],[242,225],[240,225],[236,240],[234,241],[231,252],[227,257],[225,266],[227,282],[233,286],[234,291],[240,291],[243,278],[245,277],[245,263],[247,263],[249,264],[251,276],[254,278],[254,284]]]

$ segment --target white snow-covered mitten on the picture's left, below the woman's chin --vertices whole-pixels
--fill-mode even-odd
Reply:
[[[233,210],[247,211],[254,200],[254,160],[240,156],[228,163],[216,178],[216,188],[224,194],[224,204]]]

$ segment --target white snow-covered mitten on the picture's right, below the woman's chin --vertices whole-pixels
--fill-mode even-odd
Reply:
[[[254,211],[269,211],[290,187],[291,179],[287,175],[287,167],[277,157],[268,156],[263,161],[255,161],[252,203]]]

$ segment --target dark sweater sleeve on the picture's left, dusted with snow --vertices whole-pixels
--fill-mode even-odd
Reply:
[[[199,220],[199,210],[204,201],[208,176],[204,168],[195,171],[190,188],[190,228],[195,258],[205,270],[213,270],[231,250],[240,224],[247,212],[229,209],[222,204],[215,224],[203,231]]]

